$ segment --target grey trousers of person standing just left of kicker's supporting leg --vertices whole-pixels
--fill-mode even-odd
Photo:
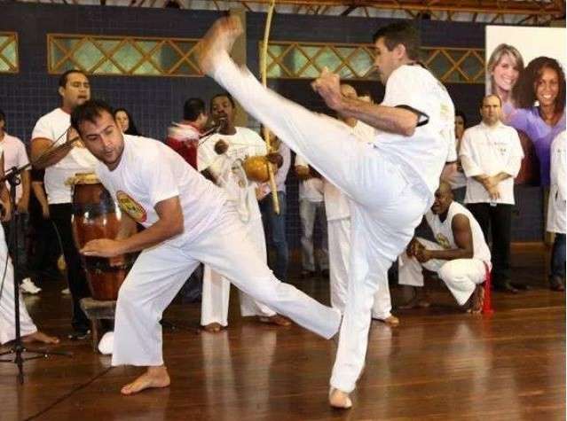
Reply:
[[[327,221],[325,215],[325,202],[312,202],[307,199],[299,200],[299,218],[301,219],[301,261],[304,270],[314,272],[315,252],[313,249],[313,229],[315,220],[319,218],[321,227],[321,249],[318,256],[320,269],[328,269]]]

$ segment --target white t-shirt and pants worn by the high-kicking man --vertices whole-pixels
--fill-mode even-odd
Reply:
[[[215,59],[214,79],[352,200],[350,282],[331,377],[332,387],[350,393],[364,366],[374,293],[387,287],[392,261],[433,202],[453,143],[453,102],[427,70],[400,66],[390,75],[382,105],[410,105],[429,122],[413,136],[376,130],[374,139],[358,142],[343,122],[264,88],[228,53]]]

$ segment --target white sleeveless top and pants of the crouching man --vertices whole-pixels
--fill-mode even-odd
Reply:
[[[470,295],[475,291],[476,285],[482,284],[486,277],[486,271],[491,269],[490,249],[484,240],[483,230],[476,222],[469,209],[460,203],[453,201],[447,211],[445,221],[439,219],[439,215],[429,211],[425,214],[425,219],[433,231],[437,243],[423,238],[417,240],[425,246],[427,250],[451,250],[458,248],[453,238],[453,217],[457,214],[464,214],[469,218],[470,230],[473,239],[472,259],[454,259],[453,261],[443,261],[431,259],[425,263],[420,263],[415,257],[408,257],[406,252],[399,256],[399,284],[423,286],[423,273],[421,268],[437,272],[437,275],[445,282],[449,291],[460,306],[469,300]]]

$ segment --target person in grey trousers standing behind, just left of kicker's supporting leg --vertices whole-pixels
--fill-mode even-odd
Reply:
[[[321,175],[309,166],[299,154],[295,155],[295,174],[299,178],[299,218],[301,220],[301,265],[302,277],[313,277],[317,263],[321,272],[328,269],[327,215],[323,199],[323,180]],[[315,222],[321,230],[321,246],[316,253],[313,246]]]

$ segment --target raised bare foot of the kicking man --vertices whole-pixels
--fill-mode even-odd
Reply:
[[[210,76],[215,72],[217,58],[232,50],[242,32],[242,23],[236,16],[217,19],[199,43],[197,57],[203,74]]]

